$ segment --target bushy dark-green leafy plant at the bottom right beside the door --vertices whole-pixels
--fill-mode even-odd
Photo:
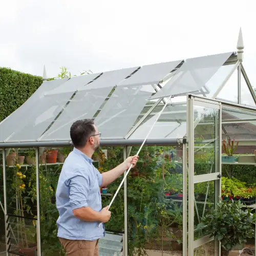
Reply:
[[[225,251],[223,254],[228,254],[234,246],[244,244],[253,237],[255,220],[255,214],[251,214],[251,209],[240,201],[221,201],[202,217],[198,228],[220,241]]]

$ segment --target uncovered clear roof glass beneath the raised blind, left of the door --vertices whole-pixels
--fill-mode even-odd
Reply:
[[[143,139],[150,131],[163,108],[155,108],[151,115],[131,135],[130,139]],[[156,109],[158,111],[156,111]],[[182,138],[186,134],[186,105],[167,105],[158,121],[154,125],[148,138]]]

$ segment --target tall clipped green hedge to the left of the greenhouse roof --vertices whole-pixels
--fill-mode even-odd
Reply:
[[[22,105],[41,83],[40,76],[0,67],[0,121]]]

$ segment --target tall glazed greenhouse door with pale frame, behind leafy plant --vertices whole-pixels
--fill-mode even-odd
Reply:
[[[221,103],[187,96],[188,255],[219,255],[197,225],[221,196]]]

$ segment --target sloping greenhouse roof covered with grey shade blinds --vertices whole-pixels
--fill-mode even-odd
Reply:
[[[85,118],[94,119],[102,139],[141,139],[166,101],[150,138],[181,138],[186,134],[185,95],[225,97],[239,65],[237,55],[229,52],[44,81],[0,123],[0,142],[69,141],[71,124]],[[225,100],[255,107],[245,71],[243,79],[240,102],[238,96]],[[226,117],[234,118],[228,110]],[[255,127],[253,120],[245,129]]]

